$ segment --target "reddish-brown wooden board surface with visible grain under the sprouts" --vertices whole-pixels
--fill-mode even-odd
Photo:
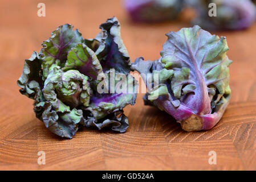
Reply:
[[[115,15],[132,60],[158,59],[165,33],[189,27],[189,20],[157,24],[129,21],[119,0],[44,1],[46,17],[37,16],[40,1],[1,1],[0,7],[0,169],[180,170],[256,169],[256,24],[243,31],[213,32],[226,36],[233,60],[230,105],[214,129],[186,133],[168,114],[143,105],[139,94],[127,106],[127,133],[81,129],[72,140],[61,139],[35,118],[32,100],[18,92],[23,61],[39,51],[60,24],[72,23],[84,38]],[[184,13],[186,14],[186,12]],[[186,17],[186,16],[184,16]],[[46,164],[38,165],[38,151]],[[217,165],[208,163],[217,152]]]

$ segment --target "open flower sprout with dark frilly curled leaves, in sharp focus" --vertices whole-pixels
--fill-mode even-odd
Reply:
[[[123,107],[135,104],[137,96],[137,82],[129,75],[131,60],[119,21],[110,18],[100,28],[94,39],[83,39],[71,24],[59,26],[39,53],[25,60],[19,91],[34,100],[36,117],[60,137],[72,138],[83,126],[120,133],[128,127]],[[117,93],[112,87],[119,80],[109,84],[112,76],[129,77],[126,86],[132,92],[124,92],[124,86]]]

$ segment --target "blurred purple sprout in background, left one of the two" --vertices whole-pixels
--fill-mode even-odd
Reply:
[[[124,0],[124,7],[135,22],[158,22],[177,18],[183,0]]]

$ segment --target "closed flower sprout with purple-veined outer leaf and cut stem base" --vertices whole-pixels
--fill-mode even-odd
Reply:
[[[226,38],[199,26],[166,36],[159,60],[139,57],[132,64],[148,88],[144,102],[172,115],[185,131],[212,129],[231,94]]]

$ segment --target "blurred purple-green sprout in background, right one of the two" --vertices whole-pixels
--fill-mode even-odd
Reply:
[[[255,22],[256,7],[251,0],[188,0],[188,3],[198,13],[193,24],[208,30],[241,30]],[[216,16],[209,16],[213,8],[210,3],[216,5]]]

